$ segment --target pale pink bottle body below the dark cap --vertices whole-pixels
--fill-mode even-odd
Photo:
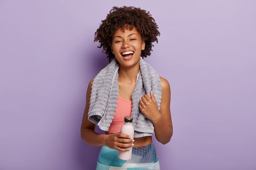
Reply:
[[[121,133],[124,133],[126,135],[129,135],[133,139],[134,136],[134,129],[132,126],[132,123],[124,122],[124,125],[121,127]],[[130,147],[130,150],[128,151],[119,151],[118,157],[123,160],[129,160],[132,157],[132,146]]]

